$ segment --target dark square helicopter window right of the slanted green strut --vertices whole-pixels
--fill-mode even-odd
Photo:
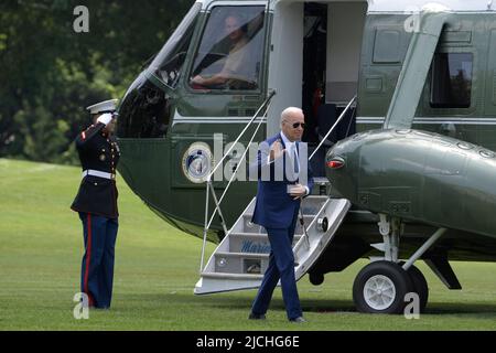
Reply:
[[[436,53],[432,62],[431,107],[468,108],[472,53]]]

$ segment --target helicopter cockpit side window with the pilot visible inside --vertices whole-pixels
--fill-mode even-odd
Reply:
[[[194,89],[259,89],[265,7],[212,10],[191,72]]]

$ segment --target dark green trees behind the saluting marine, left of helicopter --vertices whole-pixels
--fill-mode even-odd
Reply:
[[[75,163],[85,107],[121,98],[193,0],[0,3],[0,157]],[[89,10],[76,33],[74,8]]]

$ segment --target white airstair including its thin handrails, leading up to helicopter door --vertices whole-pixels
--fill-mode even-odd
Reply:
[[[240,162],[237,163],[236,170],[231,174],[224,193],[219,197],[214,189],[212,176],[216,170],[223,165],[226,156],[228,156],[234,146],[239,142],[241,136],[254,124],[259,113],[263,108],[268,107],[274,94],[276,92],[273,90],[269,94],[251,120],[240,132],[236,141],[231,143],[231,148],[225,153],[223,159],[218,161],[214,170],[206,178],[205,226],[203,234],[202,261],[200,267],[201,278],[196,282],[194,289],[195,295],[258,288],[261,285],[263,274],[269,265],[270,243],[263,227],[251,223],[256,199],[251,200],[229,231],[224,222],[224,216],[220,210],[220,203],[223,202],[224,196],[226,195],[236,173],[238,172],[241,161],[246,158],[248,149],[246,149],[245,153],[241,156]],[[325,139],[327,139],[331,132],[336,128],[337,124],[339,124],[343,119],[355,99],[356,96],[348,103],[334,126],[322,139],[312,156],[310,156],[309,161],[315,156]],[[268,108],[266,109],[266,114]],[[259,120],[249,145],[254,141],[255,136],[260,129],[262,120],[263,118]],[[314,189],[317,189],[319,193],[322,193],[322,190],[327,191],[328,188],[330,183],[327,179],[314,179]],[[296,223],[293,238],[294,271],[296,280],[302,278],[311,269],[312,265],[330,245],[335,232],[339,227],[351,207],[351,202],[348,200],[332,199],[328,194],[330,192],[324,192],[324,195],[316,195],[312,191],[309,196],[301,201],[299,216],[300,222]],[[212,215],[208,212],[209,196],[213,197],[216,205]],[[220,224],[226,236],[214,250],[207,261],[207,265],[204,267],[207,232],[216,214],[220,217]]]

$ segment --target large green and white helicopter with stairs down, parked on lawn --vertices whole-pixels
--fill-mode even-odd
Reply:
[[[357,310],[402,313],[409,293],[428,303],[417,260],[449,289],[462,288],[450,261],[495,261],[495,11],[487,0],[196,1],[128,88],[117,126],[133,192],[219,243],[206,266],[203,248],[194,292],[260,285],[270,246],[250,222],[257,183],[236,173],[288,106],[305,114],[316,181],[298,279],[317,286],[370,258]],[[229,76],[236,36],[248,58]]]

